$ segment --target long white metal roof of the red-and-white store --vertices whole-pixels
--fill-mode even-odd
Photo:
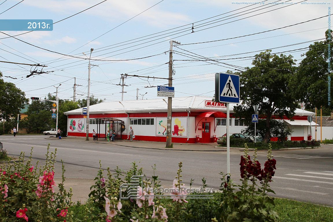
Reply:
[[[205,101],[211,101],[212,97],[192,96],[192,97],[176,97],[172,99],[173,111],[226,111],[225,107],[206,107]],[[229,109],[233,113],[233,108],[237,104],[230,103]],[[119,112],[165,112],[167,111],[167,98],[152,99],[152,100],[131,100],[131,101],[116,101],[103,102],[89,107],[89,113],[119,113]],[[69,114],[81,114],[82,108],[64,112]],[[303,111],[296,109],[296,115],[314,115],[314,112]]]

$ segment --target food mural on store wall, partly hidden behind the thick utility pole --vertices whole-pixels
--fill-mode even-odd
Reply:
[[[166,136],[167,118],[156,118],[156,135]],[[187,118],[179,117],[171,120],[172,136],[187,136]]]

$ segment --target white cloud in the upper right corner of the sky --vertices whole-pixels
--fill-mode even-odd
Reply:
[[[219,1],[219,0],[210,0],[210,1],[196,0],[196,1],[201,2],[201,3],[204,2],[205,4],[210,4],[215,7],[216,6],[229,7],[232,10],[248,6],[248,4],[232,4],[233,1],[230,1],[230,2],[228,1],[228,4],[226,4],[224,1]],[[237,1],[237,2],[248,2],[248,1],[241,0],[241,1]],[[269,2],[275,2],[275,1],[269,1]],[[267,30],[270,30],[270,29],[276,29],[276,28],[280,28],[280,27],[284,27],[284,26],[288,26],[288,25],[293,25],[296,23],[300,23],[300,22],[304,22],[307,20],[325,16],[328,14],[328,7],[330,6],[329,4],[315,4],[318,2],[328,3],[329,1],[315,1],[315,0],[311,1],[311,2],[303,2],[303,4],[299,3],[299,4],[289,5],[289,3],[293,3],[293,2],[300,2],[300,1],[298,1],[298,0],[291,1],[291,2],[288,2],[288,4],[279,4],[279,5],[274,4],[273,6],[272,6],[272,4],[267,4],[267,3],[265,5],[260,5],[260,4],[252,5],[246,9],[240,9],[238,11],[232,12],[232,14],[238,13],[238,12],[241,12],[244,10],[248,10],[250,8],[259,7],[259,6],[261,6],[261,7],[255,9],[255,10],[258,10],[261,8],[266,8],[268,6],[271,6],[271,7],[267,8],[267,9],[262,9],[262,10],[259,10],[259,11],[253,12],[253,13],[249,13],[249,14],[246,14],[243,16],[236,17],[234,19],[231,19],[231,21],[236,20],[237,18],[248,17],[251,15],[256,15],[256,14],[259,14],[262,12],[266,12],[269,10],[273,10],[273,9],[277,9],[277,8],[286,6],[281,9],[277,9],[277,10],[267,12],[267,13],[264,13],[261,15],[253,16],[250,18],[246,18],[244,20],[240,20],[240,21],[237,21],[234,23],[235,25],[239,25],[239,24],[245,24],[246,22],[250,22],[250,24],[247,24],[247,25],[260,26],[260,27],[266,28]],[[244,14],[244,13],[240,13],[240,14]],[[280,29],[280,31],[285,32],[285,33],[294,33],[294,32],[301,32],[301,31],[318,29],[318,28],[326,28],[326,29],[328,28],[328,17],[324,17],[322,19],[314,20],[314,21],[296,25],[296,26],[291,26],[289,28],[283,28],[283,29]],[[303,33],[298,33],[298,34],[293,34],[293,35],[296,35],[297,37],[301,37],[306,40],[314,40],[314,39],[324,38],[325,37],[324,33],[325,33],[326,29],[310,31],[310,32],[303,32]]]

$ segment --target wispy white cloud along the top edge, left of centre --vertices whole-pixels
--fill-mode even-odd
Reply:
[[[91,0],[34,0],[24,1],[23,3],[29,6],[61,13],[64,17],[75,14],[96,4],[96,2],[93,3]],[[124,22],[145,11],[154,4],[156,4],[156,1],[154,0],[107,1],[83,13],[103,17],[112,21],[112,25],[115,25],[115,21]],[[162,5],[166,3],[162,2],[160,4]],[[144,21],[153,26],[168,27],[170,25],[174,26],[175,24],[183,24],[189,20],[186,15],[161,10],[160,8],[160,5],[156,5],[130,22]]]

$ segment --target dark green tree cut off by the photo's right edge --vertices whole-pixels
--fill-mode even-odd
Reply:
[[[329,60],[333,66],[332,33],[332,30],[327,30],[325,41],[309,46],[309,51],[302,55],[305,58],[299,63],[298,71],[291,78],[289,85],[300,101],[306,104],[306,108],[316,107],[320,110],[322,106],[332,110],[328,105],[328,78],[332,77]]]

